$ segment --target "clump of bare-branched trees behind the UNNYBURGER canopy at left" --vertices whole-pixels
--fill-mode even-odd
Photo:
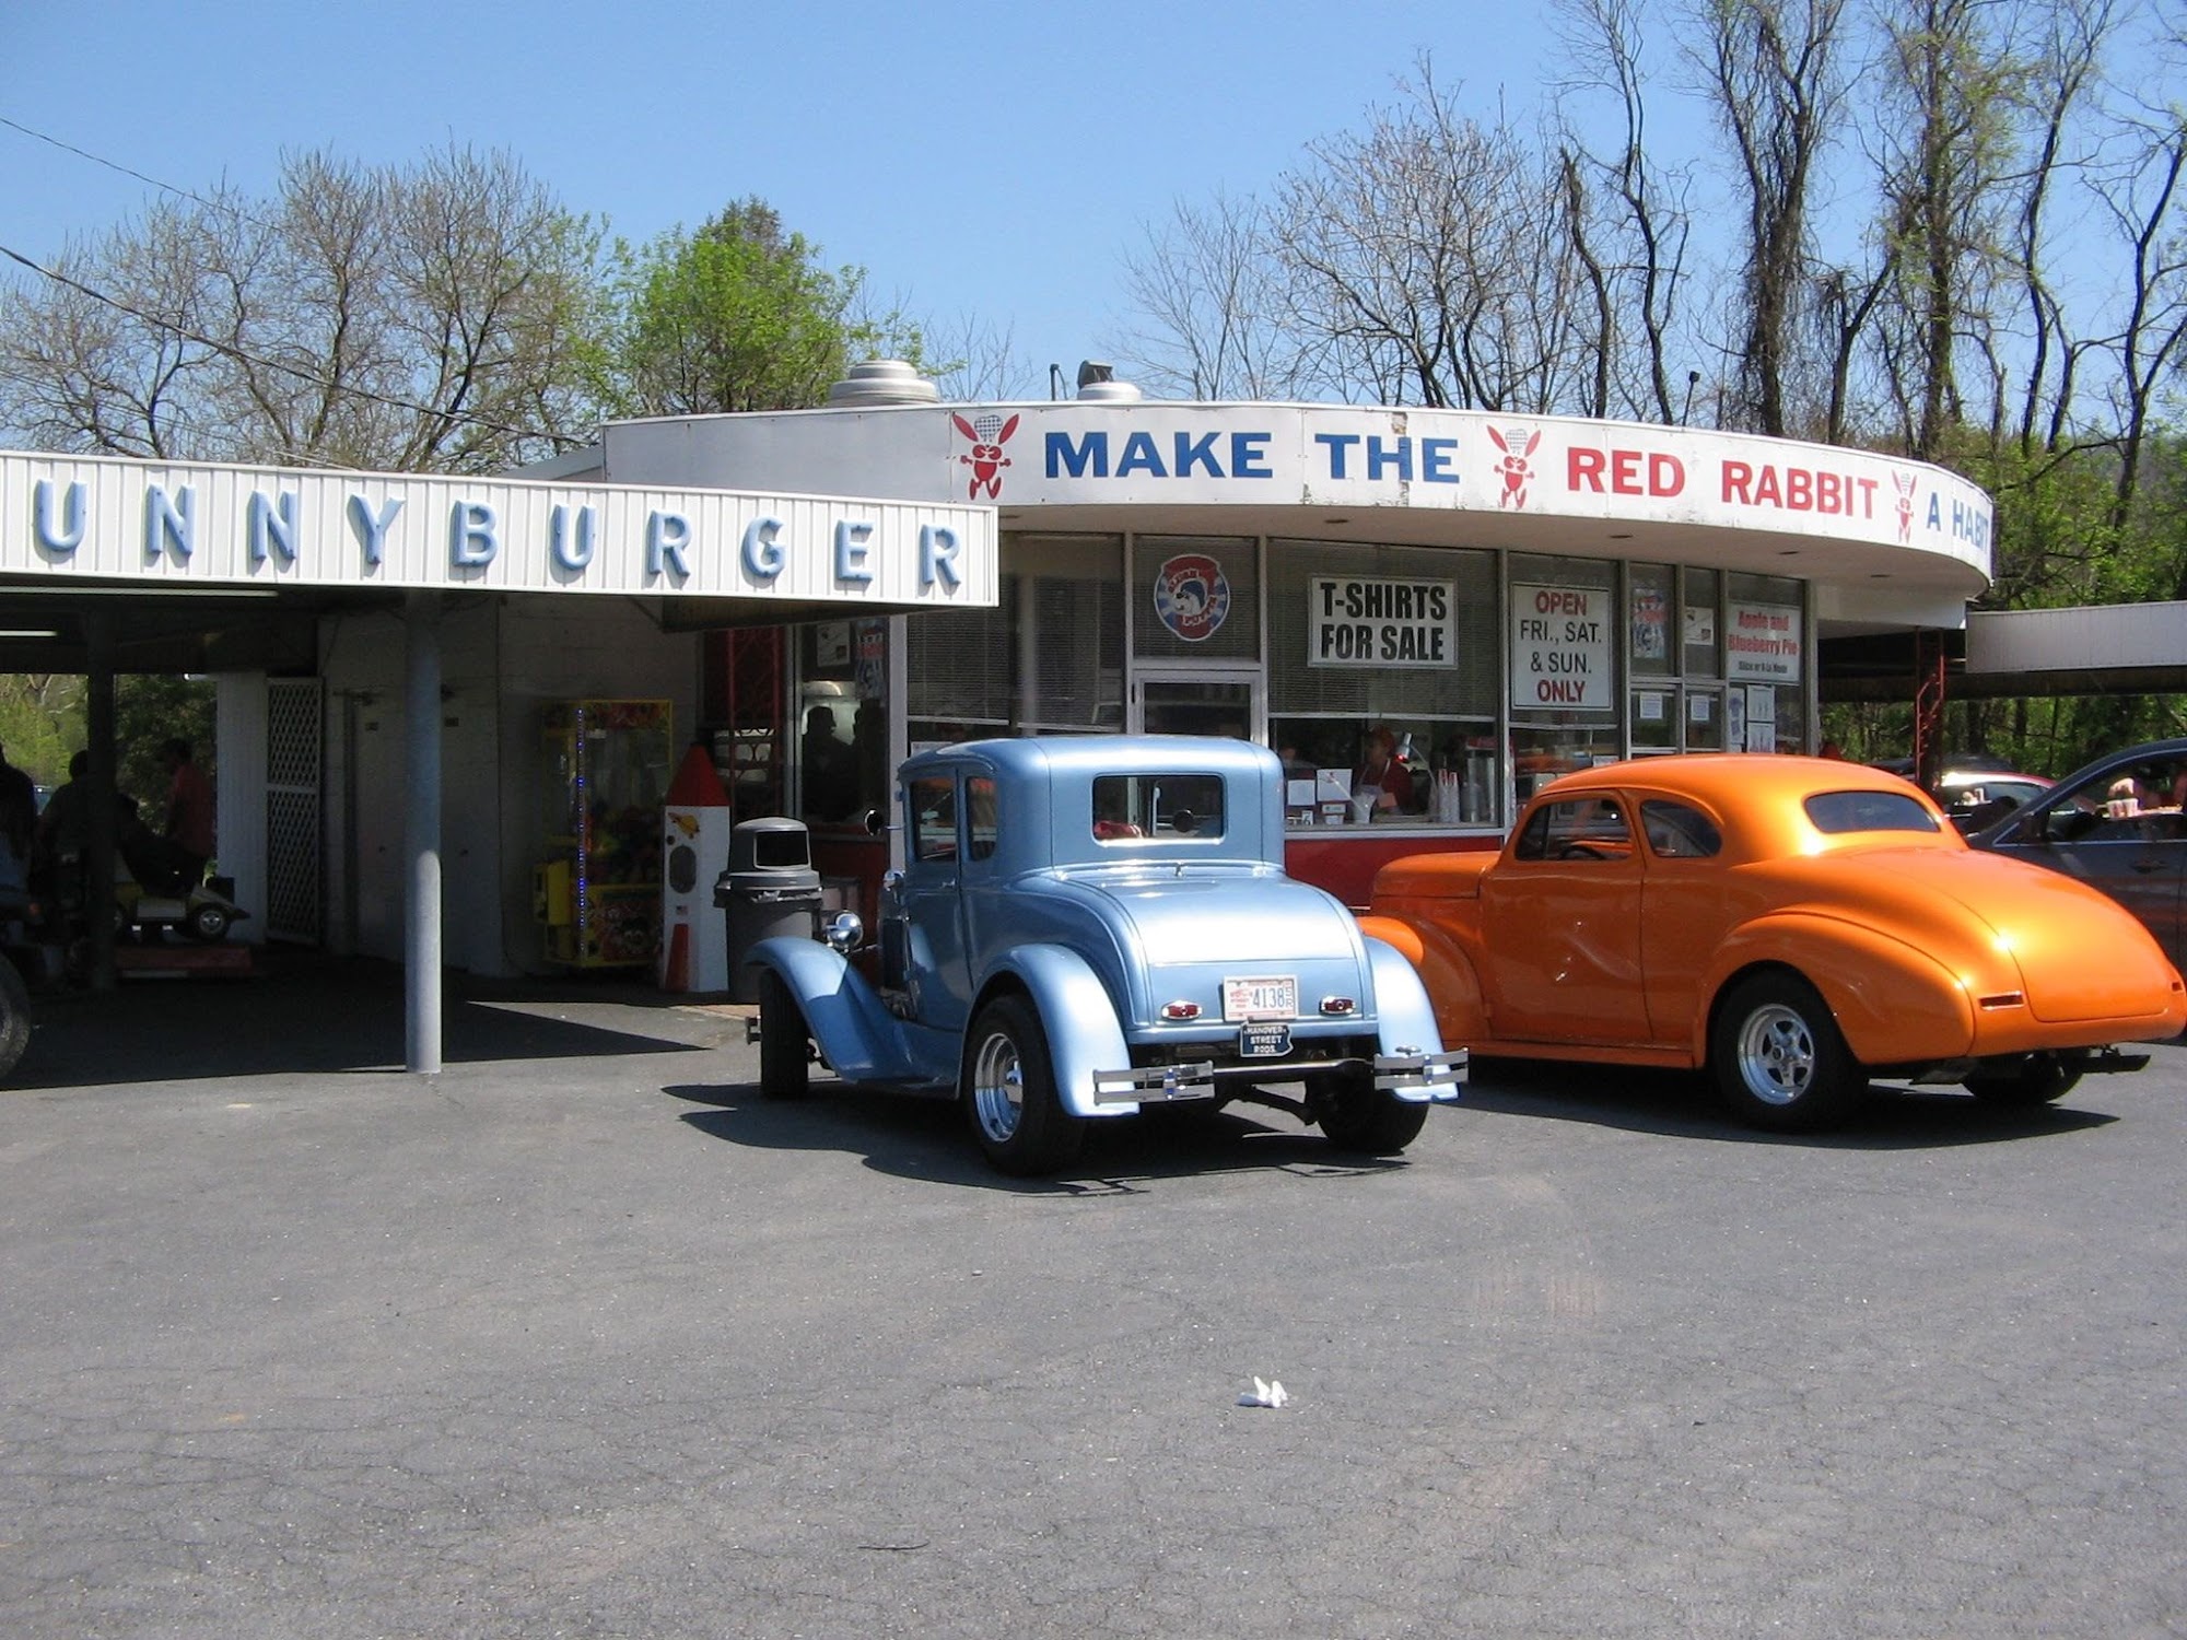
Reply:
[[[0,422],[46,448],[494,472],[588,426],[593,234],[507,155],[291,157],[15,280]]]

